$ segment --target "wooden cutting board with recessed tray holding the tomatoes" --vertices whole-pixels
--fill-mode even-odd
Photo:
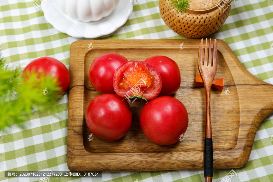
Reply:
[[[92,42],[92,46],[89,44]],[[180,50],[184,42],[185,48]],[[273,86],[251,75],[230,47],[217,40],[218,69],[215,79],[224,78],[223,92],[211,91],[213,167],[238,168],[249,158],[261,121],[273,112]],[[198,72],[200,39],[167,40],[79,40],[70,47],[67,165],[72,171],[150,171],[204,168],[205,92],[194,88]],[[88,46],[92,49],[89,49]],[[99,55],[116,52],[128,60],[168,56],[177,62],[181,86],[171,96],[184,103],[189,126],[184,140],[170,146],[152,143],[142,132],[139,114],[143,103],[131,105],[130,131],[120,140],[93,136],[86,126],[89,102],[100,95],[89,81],[89,67]],[[229,89],[226,95],[225,90]],[[121,113],[122,114],[122,113]],[[92,137],[91,137],[92,139]]]

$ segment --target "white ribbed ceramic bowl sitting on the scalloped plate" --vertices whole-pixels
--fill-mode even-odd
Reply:
[[[83,22],[98,21],[110,15],[120,0],[57,0],[59,8],[70,18]]]

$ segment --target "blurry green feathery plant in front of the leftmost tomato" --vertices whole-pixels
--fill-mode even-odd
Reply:
[[[51,76],[30,73],[29,79],[21,78],[19,68],[5,66],[0,54],[0,130],[28,120],[33,110],[46,109],[56,104],[61,87]],[[43,90],[47,88],[46,95]],[[51,112],[49,110],[49,112]],[[4,130],[3,130],[4,131]]]

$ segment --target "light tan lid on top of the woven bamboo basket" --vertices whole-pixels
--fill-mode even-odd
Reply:
[[[224,0],[191,0],[189,13],[207,13],[218,8],[218,4]],[[226,0],[228,1],[228,0]]]

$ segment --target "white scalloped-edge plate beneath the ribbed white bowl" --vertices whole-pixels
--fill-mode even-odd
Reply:
[[[69,18],[60,10],[55,1],[43,0],[41,8],[45,19],[58,31],[76,38],[97,38],[113,33],[124,25],[133,12],[133,0],[120,0],[110,15],[92,22]]]

